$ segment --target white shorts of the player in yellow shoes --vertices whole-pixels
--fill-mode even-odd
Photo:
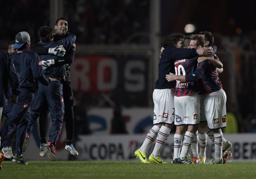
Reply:
[[[155,89],[153,91],[153,101],[153,123],[172,124],[174,121],[174,89]]]

